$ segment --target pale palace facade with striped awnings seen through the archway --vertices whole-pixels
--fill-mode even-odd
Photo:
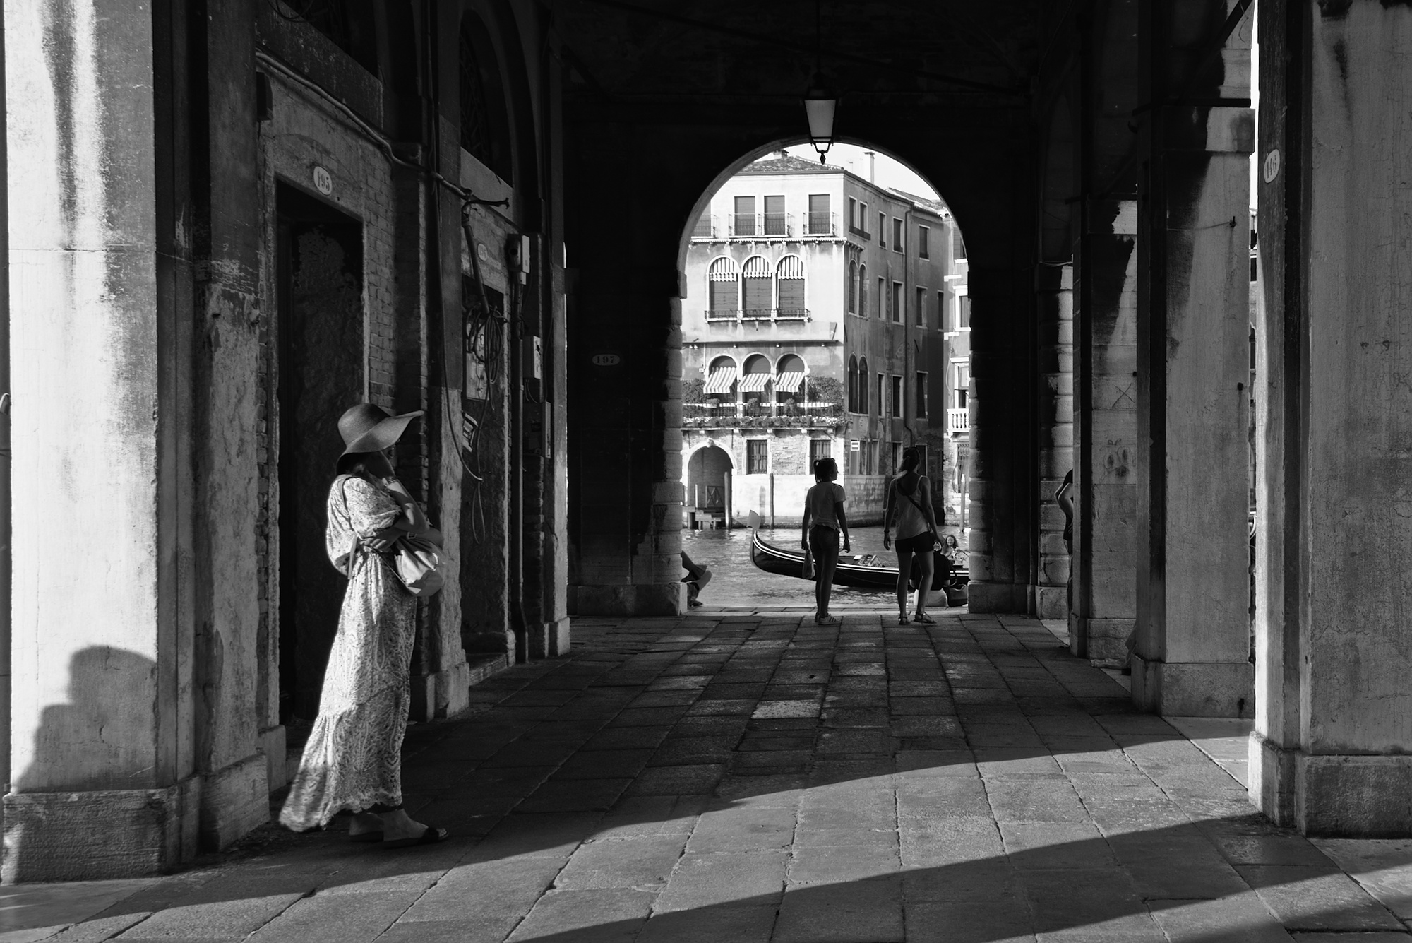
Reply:
[[[825,456],[850,518],[877,524],[907,446],[960,508],[970,308],[943,203],[771,154],[710,193],[686,239],[688,527],[798,524]]]

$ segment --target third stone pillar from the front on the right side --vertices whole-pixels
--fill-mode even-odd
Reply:
[[[1075,250],[1075,655],[1127,659],[1137,603],[1137,205],[1084,205]]]

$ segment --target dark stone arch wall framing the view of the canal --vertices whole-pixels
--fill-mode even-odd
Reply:
[[[899,109],[856,109],[839,140],[887,151],[926,178],[966,234],[980,325],[971,332],[973,428],[988,428],[984,438],[973,433],[971,606],[1025,611],[1035,541],[1032,445],[1024,431],[1035,384],[1034,353],[1024,342],[1034,330],[1034,230],[1024,223],[1034,217],[1031,133],[1019,109],[963,109],[946,128],[914,110],[898,120]],[[678,611],[682,236],[736,169],[802,140],[802,112],[686,109],[681,120],[657,123],[641,114],[630,120],[621,106],[583,93],[566,102],[565,121],[575,287],[569,479],[585,483],[570,495],[570,593],[580,613]],[[970,123],[983,134],[974,147],[956,147]],[[609,220],[607,206],[594,200],[606,179],[633,181],[614,195],[611,240],[596,232]],[[631,260],[627,280],[623,258]],[[594,344],[617,364],[594,366]],[[594,398],[607,408],[590,411]],[[613,498],[589,493],[589,483]]]

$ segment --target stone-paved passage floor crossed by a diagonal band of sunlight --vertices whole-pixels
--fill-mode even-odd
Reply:
[[[1272,827],[1220,730],[1134,713],[1041,623],[801,618],[575,620],[569,658],[409,733],[408,805],[453,840],[270,826],[169,878],[7,889],[30,929],[0,940],[1409,939],[1412,843]]]

